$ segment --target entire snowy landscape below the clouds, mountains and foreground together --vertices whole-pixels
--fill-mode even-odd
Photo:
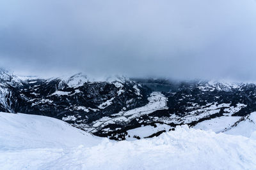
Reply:
[[[1,169],[256,167],[254,83],[1,71],[0,111]]]

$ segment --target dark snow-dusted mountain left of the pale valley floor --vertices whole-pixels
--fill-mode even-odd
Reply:
[[[95,120],[145,106],[150,89],[124,76],[21,78],[0,74],[0,111],[45,115],[89,131]]]

